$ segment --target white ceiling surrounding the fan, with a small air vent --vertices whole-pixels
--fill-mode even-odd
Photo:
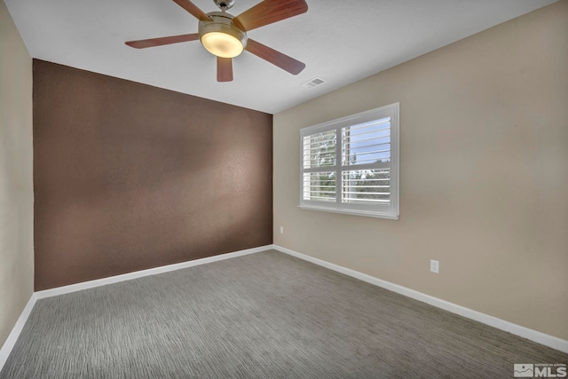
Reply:
[[[4,0],[33,58],[275,114],[556,0],[306,0],[308,12],[248,32],[301,60],[299,75],[243,52],[217,83],[199,41],[132,49],[125,41],[197,32],[171,0]],[[235,0],[238,15],[258,0]],[[213,0],[193,0],[203,12]],[[314,77],[318,87],[302,86]]]

